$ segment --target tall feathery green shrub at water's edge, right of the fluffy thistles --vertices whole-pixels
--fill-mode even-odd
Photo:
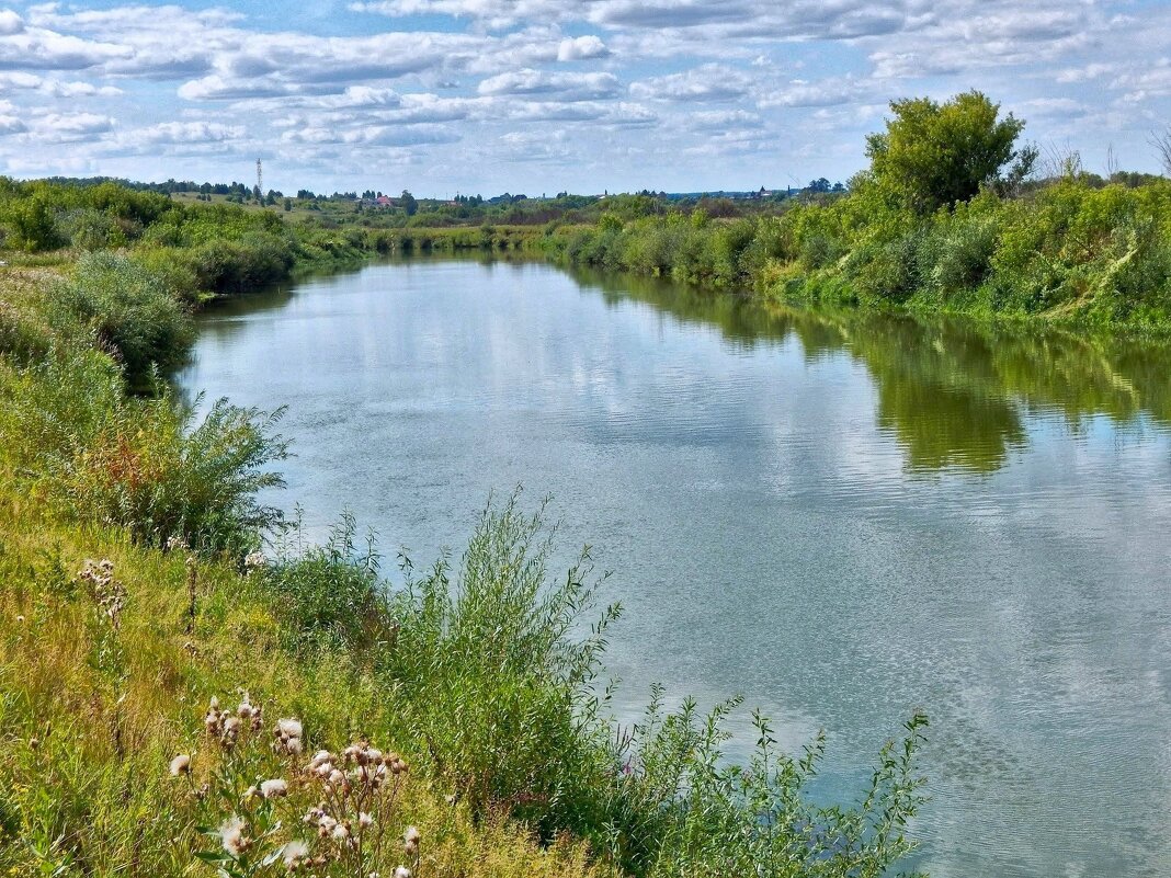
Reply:
[[[618,608],[576,639],[595,594],[588,554],[552,584],[548,553],[540,514],[514,495],[484,513],[457,582],[444,562],[422,578],[408,567],[385,674],[433,770],[474,810],[587,834],[612,768],[591,682]]]

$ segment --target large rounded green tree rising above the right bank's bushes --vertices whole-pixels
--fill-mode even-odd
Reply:
[[[1036,162],[1034,148],[1014,149],[1025,123],[998,118],[1000,104],[979,91],[943,104],[892,101],[890,109],[886,131],[867,137],[870,176],[917,213],[967,201],[981,186],[1019,184]]]

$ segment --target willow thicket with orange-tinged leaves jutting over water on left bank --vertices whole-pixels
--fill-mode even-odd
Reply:
[[[59,352],[0,375],[0,457],[64,515],[125,527],[142,543],[178,539],[244,555],[281,522],[256,492],[281,485],[281,412],[225,400],[201,421],[165,390],[132,397],[96,351]]]

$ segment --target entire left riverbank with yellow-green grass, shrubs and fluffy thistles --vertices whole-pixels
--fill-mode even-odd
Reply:
[[[258,503],[280,410],[196,421],[159,375],[206,297],[383,239],[117,187],[2,205],[0,873],[848,878],[911,850],[922,716],[841,808],[807,795],[820,740],[790,757],[758,718],[727,762],[735,702],[617,727],[618,608],[588,557],[550,575],[539,512],[386,571],[351,521],[313,546]]]

